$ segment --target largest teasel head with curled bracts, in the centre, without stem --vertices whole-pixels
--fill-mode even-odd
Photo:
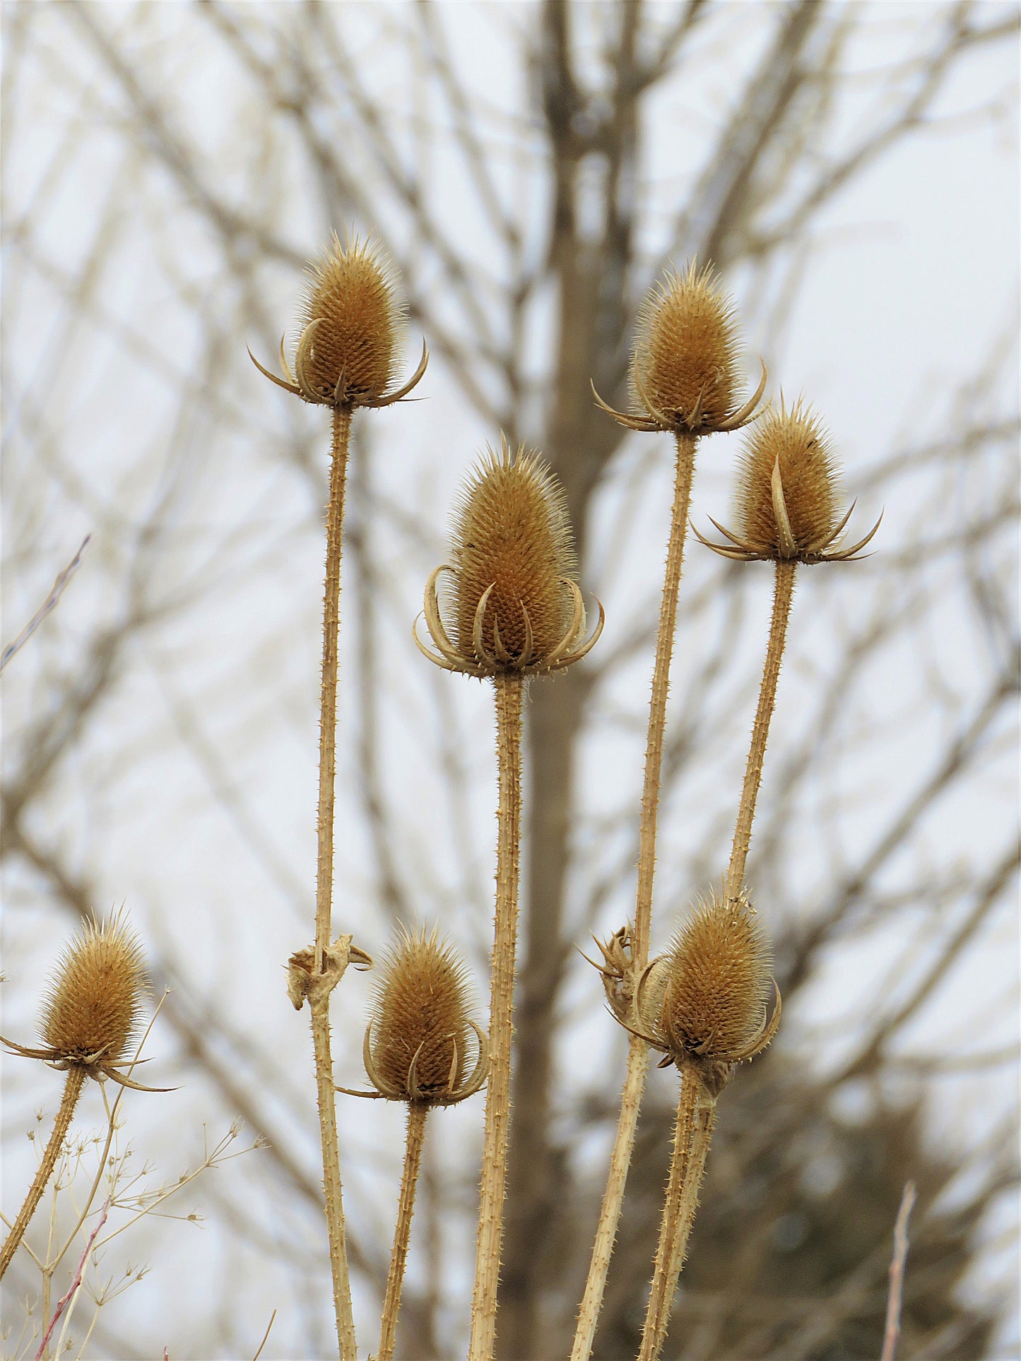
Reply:
[[[570,666],[595,645],[599,623],[581,646],[585,611],[564,491],[536,453],[487,449],[455,510],[452,565],[429,577],[425,619],[437,651],[415,642],[430,661],[468,675],[527,675]],[[437,581],[452,577],[453,640],[440,618]]]

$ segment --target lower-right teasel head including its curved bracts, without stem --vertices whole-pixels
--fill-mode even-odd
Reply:
[[[742,894],[711,894],[679,927],[670,950],[636,989],[636,1030],[664,1063],[728,1070],[764,1049],[780,1023],[780,994],[768,1009],[771,953],[756,909]]]

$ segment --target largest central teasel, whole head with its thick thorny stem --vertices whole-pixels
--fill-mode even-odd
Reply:
[[[510,1041],[521,821],[521,706],[527,676],[560,671],[584,657],[603,630],[581,644],[585,611],[564,493],[536,453],[489,449],[455,509],[451,563],[425,591],[425,619],[436,652],[419,651],[445,671],[490,676],[497,700],[497,893],[490,984],[490,1075],[482,1150],[470,1361],[489,1361],[496,1341],[500,1248],[504,1230],[506,1143],[510,1123]],[[451,573],[453,641],[440,615],[437,581]]]

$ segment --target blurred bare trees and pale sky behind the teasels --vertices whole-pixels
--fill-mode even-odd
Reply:
[[[502,1357],[566,1354],[623,1072],[576,946],[633,898],[670,450],[625,438],[589,378],[626,400],[636,309],[693,256],[886,519],[869,562],[799,583],[749,862],[784,1026],[722,1101],[670,1354],[877,1356],[913,1177],[900,1354],[1016,1356],[1016,7],[11,3],[3,22],[5,637],[93,534],[4,676],[4,1030],[31,1023],[50,943],[127,898],[173,988],[157,1062],[182,1085],[172,1115],[133,1101],[136,1141],[169,1157],[241,1115],[270,1143],[203,1188],[200,1239],[139,1228],[124,1251],[154,1270],[94,1354],[250,1354],[271,1307],[264,1356],[331,1354],[280,970],[313,911],[327,437],[245,344],[275,352],[306,261],[351,226],[403,274],[408,354],[421,332],[434,358],[427,406],[357,431],[339,930],[378,950],[395,921],[440,920],[485,994],[486,700],[430,674],[410,622],[453,487],[501,429],[557,468],[609,615],[527,708]],[[701,457],[702,523],[734,452]],[[660,940],[724,864],[765,638],[766,570],[709,558],[693,548],[682,584]],[[336,1000],[340,1082],[366,1000]],[[4,1081],[7,1207],[53,1098]],[[600,1357],[634,1353],[674,1081],[649,1092]],[[399,1121],[340,1121],[365,1330]],[[441,1124],[415,1358],[457,1356],[467,1319],[481,1106]],[[14,1311],[31,1274],[4,1288]]]

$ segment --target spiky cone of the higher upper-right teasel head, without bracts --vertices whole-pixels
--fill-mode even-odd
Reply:
[[[711,265],[694,261],[683,274],[656,284],[638,312],[632,357],[632,388],[637,411],[652,406],[682,425],[709,431],[724,425],[738,388],[738,325],[734,304]]]

